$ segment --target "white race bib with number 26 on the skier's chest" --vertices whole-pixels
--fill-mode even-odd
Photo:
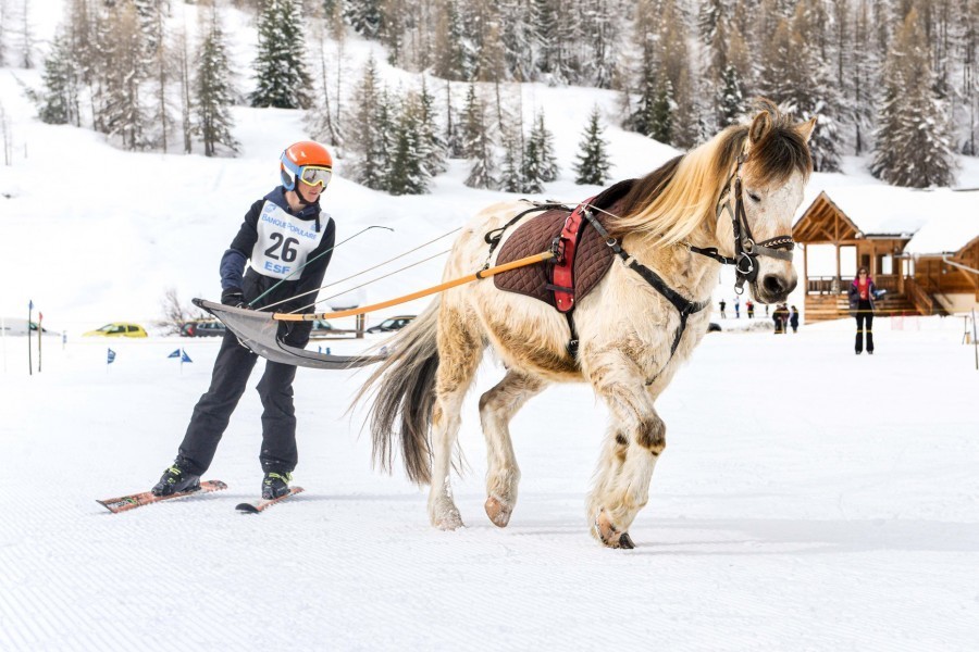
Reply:
[[[259,214],[258,240],[251,250],[251,268],[263,276],[298,280],[306,259],[323,239],[325,229],[315,230],[314,221],[289,215],[265,200]]]

